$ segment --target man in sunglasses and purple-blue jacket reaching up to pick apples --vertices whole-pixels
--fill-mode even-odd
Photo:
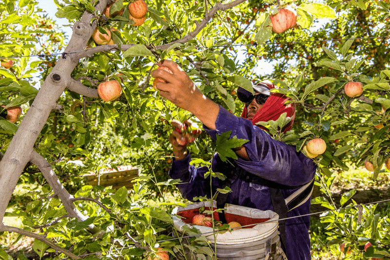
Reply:
[[[248,140],[235,149],[236,160],[224,162],[217,153],[213,156],[212,170],[223,173],[230,180],[232,192],[228,194],[226,203],[278,212],[275,205],[277,208],[281,203],[286,207],[284,198],[313,180],[316,165],[312,159],[296,152],[295,146],[273,140],[266,128],[256,125],[256,122],[276,120],[287,113],[291,121],[282,130],[288,131],[292,127],[295,107],[291,103],[285,104],[288,100],[286,96],[269,91],[274,87],[271,82],[254,85],[254,93],[238,88],[237,95],[245,102],[245,107],[241,117],[236,117],[204,96],[175,62],[164,60],[157,65],[167,66],[172,71],[172,74],[161,69],[152,71],[153,77],[165,81],[156,83],[162,97],[193,113],[213,139],[223,132],[232,131],[231,137]],[[226,185],[226,180],[213,178],[210,187],[210,179],[204,178],[208,168],[190,165],[188,142],[180,145],[177,142],[180,138],[184,137],[174,130],[169,139],[175,155],[169,176],[182,180],[177,188],[184,198],[191,201],[197,196],[211,198],[210,189],[215,192],[216,188]],[[279,203],[275,202],[276,199]],[[289,260],[311,259],[310,217],[305,216],[309,213],[310,200],[306,200],[287,213],[287,218],[295,218],[286,220],[285,226],[284,221],[279,222],[279,228],[285,227],[286,242],[282,243],[282,247]],[[283,241],[283,237],[281,239]]]

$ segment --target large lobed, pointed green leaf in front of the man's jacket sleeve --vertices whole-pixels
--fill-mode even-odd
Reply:
[[[240,147],[248,140],[245,139],[237,139],[236,136],[233,138],[229,138],[232,134],[232,131],[227,131],[222,133],[220,136],[216,136],[216,147],[215,150],[219,154],[221,160],[226,161],[227,158],[237,159],[237,155],[232,150],[233,148]]]

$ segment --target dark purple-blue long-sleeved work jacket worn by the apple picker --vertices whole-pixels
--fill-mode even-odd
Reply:
[[[269,186],[280,188],[284,198],[290,196],[300,186],[314,178],[316,165],[303,153],[296,152],[295,146],[274,140],[268,133],[252,124],[252,121],[239,118],[220,107],[215,121],[216,130],[204,126],[205,131],[214,139],[216,135],[232,131],[231,137],[249,140],[244,144],[250,160],[238,158],[234,164],[223,162],[218,154],[212,159],[214,172],[221,172],[232,178],[231,189],[226,203],[273,210]],[[206,166],[195,168],[190,165],[190,156],[183,160],[174,160],[169,175],[180,179],[177,188],[183,198],[194,201],[194,197],[211,197],[223,181],[204,178],[209,171]],[[286,254],[289,260],[310,260],[310,200],[287,213],[287,217],[302,216],[286,220]]]

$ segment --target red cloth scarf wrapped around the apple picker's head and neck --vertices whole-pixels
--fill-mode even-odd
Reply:
[[[271,81],[266,80],[262,81],[262,84],[266,85],[269,89],[275,88],[275,85],[271,83]],[[257,122],[260,121],[269,121],[269,120],[277,120],[281,114],[287,113],[287,117],[292,118],[291,121],[285,125],[282,129],[283,132],[287,132],[291,129],[292,123],[294,122],[295,118],[295,104],[289,103],[285,104],[287,100],[290,100],[290,98],[287,98],[285,95],[281,93],[272,93],[271,96],[267,99],[267,101],[264,103],[264,105],[256,112],[254,115],[254,118],[252,119],[252,124],[256,125]],[[244,106],[244,110],[242,111],[241,117],[247,118],[247,107]],[[257,125],[263,130],[267,131],[267,128],[265,128],[262,125]]]

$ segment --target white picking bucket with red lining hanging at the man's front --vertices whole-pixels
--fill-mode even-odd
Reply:
[[[202,201],[186,207],[177,207],[173,212],[174,225],[181,233],[184,232],[184,226],[196,227],[212,243],[212,248],[216,247],[218,260],[287,260],[280,246],[279,216],[275,212],[225,204],[226,222],[236,221],[243,228],[217,233],[214,237],[213,233],[217,229],[191,224],[192,218],[199,214],[201,207],[212,211],[217,209],[215,201],[212,205],[209,201]],[[213,213],[213,217],[219,220],[217,212]]]

